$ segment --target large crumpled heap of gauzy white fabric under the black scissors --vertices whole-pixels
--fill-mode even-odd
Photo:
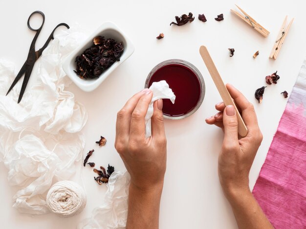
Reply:
[[[71,81],[62,69],[62,59],[86,38],[79,31],[61,31],[50,42],[19,104],[23,78],[5,96],[17,73],[12,63],[0,60],[0,161],[9,184],[19,188],[13,206],[23,213],[49,212],[45,197],[52,180],[68,179],[82,159],[85,140],[79,132],[87,113],[65,90]]]

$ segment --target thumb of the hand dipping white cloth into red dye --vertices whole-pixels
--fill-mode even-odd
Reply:
[[[163,100],[158,99],[153,103],[153,116],[151,118],[152,136],[165,136]]]

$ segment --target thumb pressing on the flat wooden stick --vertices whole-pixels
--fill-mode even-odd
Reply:
[[[225,107],[223,112],[224,140],[223,144],[233,145],[238,142],[238,120],[233,105]]]

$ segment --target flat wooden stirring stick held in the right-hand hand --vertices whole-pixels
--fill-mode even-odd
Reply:
[[[225,106],[227,105],[233,105],[235,110],[236,110],[236,114],[237,114],[237,118],[238,118],[238,133],[240,136],[244,137],[247,134],[247,128],[242,120],[242,117],[231,97],[231,95],[229,94],[229,92],[227,91],[227,88],[225,87],[223,80],[221,78],[221,76],[219,75],[219,72],[214,64],[214,61],[212,60],[212,58],[210,57],[208,50],[205,46],[201,46],[200,47],[200,55],[210,73],[210,75],[212,76],[214,83],[219,91],[219,94],[221,95],[221,98],[225,104]]]

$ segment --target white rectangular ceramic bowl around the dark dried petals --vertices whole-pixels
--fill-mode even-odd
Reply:
[[[96,36],[104,36],[105,38],[113,38],[118,42],[123,42],[123,53],[120,61],[113,63],[106,71],[104,71],[98,78],[81,79],[73,70],[76,70],[75,58],[80,56],[87,48],[93,46],[93,38]],[[92,33],[78,48],[71,52],[66,57],[63,63],[63,69],[67,76],[83,91],[91,92],[96,89],[109,74],[129,58],[134,52],[134,46],[130,39],[112,22],[103,23],[94,33]]]

